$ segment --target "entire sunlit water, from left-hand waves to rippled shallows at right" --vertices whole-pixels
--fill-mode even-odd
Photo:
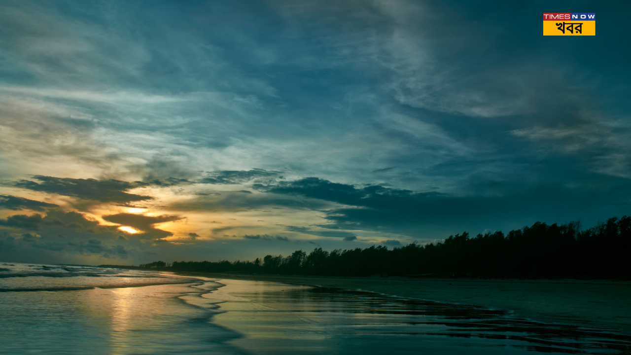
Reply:
[[[630,354],[624,330],[357,289],[0,263],[0,354]]]

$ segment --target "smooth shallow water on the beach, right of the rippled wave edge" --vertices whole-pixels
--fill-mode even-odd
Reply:
[[[601,328],[541,323],[509,311],[373,292],[218,280],[213,322],[238,329],[232,344],[255,354],[625,354],[631,337]],[[238,299],[237,299],[238,298]]]

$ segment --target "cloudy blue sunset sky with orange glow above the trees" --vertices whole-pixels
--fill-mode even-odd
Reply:
[[[138,265],[631,214],[624,2],[0,1],[0,260]],[[543,36],[592,12],[596,36]]]

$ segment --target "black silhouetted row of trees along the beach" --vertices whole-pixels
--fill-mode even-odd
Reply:
[[[115,265],[102,265],[115,267]],[[616,217],[580,230],[580,222],[558,226],[536,222],[510,231],[471,238],[467,232],[441,243],[411,243],[388,250],[371,246],[309,255],[265,256],[254,262],[153,262],[138,268],[176,272],[241,274],[485,278],[631,278],[631,217]]]

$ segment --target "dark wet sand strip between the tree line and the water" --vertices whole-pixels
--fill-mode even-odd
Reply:
[[[631,282],[628,281],[203,275],[220,279],[361,289],[404,298],[510,310],[516,317],[542,322],[631,331]]]

